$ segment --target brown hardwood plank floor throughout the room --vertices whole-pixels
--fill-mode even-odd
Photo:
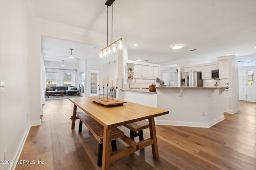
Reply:
[[[68,100],[45,102],[42,125],[31,127],[20,160],[44,164],[19,164],[16,170],[100,170],[98,142],[79,120],[71,129],[73,104]],[[79,110],[78,110],[79,111]],[[129,136],[129,130],[120,127]],[[256,103],[240,101],[240,111],[210,127],[156,125],[159,157],[151,147],[111,163],[111,170],[255,170]],[[144,130],[144,139],[150,136]],[[138,137],[136,137],[138,141]],[[120,149],[126,144],[117,140]]]

